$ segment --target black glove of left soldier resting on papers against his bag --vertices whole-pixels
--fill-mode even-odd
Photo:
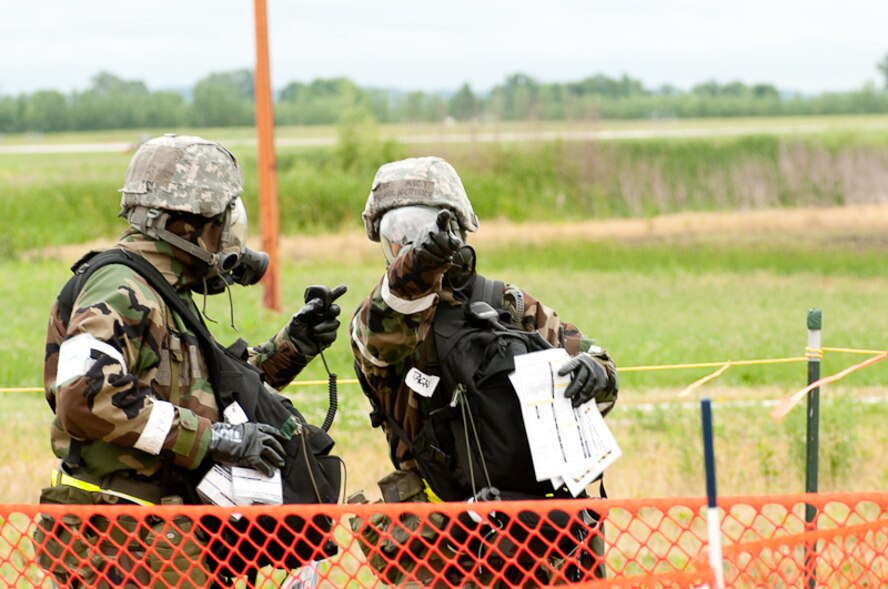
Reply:
[[[217,422],[210,428],[209,453],[216,462],[247,466],[266,476],[284,467],[283,434],[264,423]]]

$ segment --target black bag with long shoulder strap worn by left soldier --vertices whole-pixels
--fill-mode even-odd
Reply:
[[[250,421],[267,423],[291,432],[295,429],[295,435],[284,444],[287,453],[286,466],[281,472],[284,503],[337,503],[342,492],[342,461],[330,454],[333,439],[322,428],[308,423],[289,399],[268,391],[261,371],[246,361],[247,350],[243,340],[238,340],[229,348],[216,342],[203,320],[179,297],[163,275],[141,256],[111,249],[80,260],[74,267],[75,275],[58,296],[59,312],[65,322],[70,319],[74,301],[86,279],[108,264],[122,264],[135,270],[196,334],[220,410],[237,401]],[[192,491],[188,493],[188,499],[192,502],[198,502],[193,492],[197,481],[211,466],[207,461],[196,471],[176,468],[177,478]],[[279,568],[297,568],[306,561],[333,556],[338,550],[332,539],[333,521],[327,516],[317,516],[311,522],[297,516],[288,516],[283,522],[260,516],[252,523],[246,518],[222,521],[215,516],[205,516],[201,524],[214,535],[208,559],[211,564],[225,563],[224,569],[217,570],[222,576],[252,573],[256,567],[269,564]],[[242,540],[248,527],[252,543]],[[300,536],[304,539],[297,540]],[[259,551],[253,543],[255,546],[265,546],[261,558],[257,558]],[[214,557],[218,558],[218,562],[213,562]]]

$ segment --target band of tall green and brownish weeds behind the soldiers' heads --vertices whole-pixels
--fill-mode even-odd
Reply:
[[[380,164],[440,155],[460,172],[481,219],[581,220],[681,211],[888,201],[888,144],[872,137],[778,136],[609,143],[383,141],[366,113],[347,113],[333,148],[281,149],[281,230],[359,229]],[[236,150],[237,151],[237,150]],[[237,151],[257,218],[256,156]],[[0,257],[113,237],[129,154],[0,156]],[[254,225],[255,226],[255,225]]]

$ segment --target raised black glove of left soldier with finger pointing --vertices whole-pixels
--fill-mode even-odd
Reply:
[[[333,301],[348,288],[340,284],[333,290],[326,286],[305,289],[305,306],[287,324],[287,335],[303,354],[315,356],[330,347],[339,329],[337,317],[341,309]]]

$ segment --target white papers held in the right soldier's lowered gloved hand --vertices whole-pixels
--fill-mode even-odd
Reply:
[[[579,495],[622,454],[595,403],[571,406],[564,391],[570,375],[558,370],[570,356],[552,348],[515,357],[510,376],[527,430],[538,481],[566,485]]]

